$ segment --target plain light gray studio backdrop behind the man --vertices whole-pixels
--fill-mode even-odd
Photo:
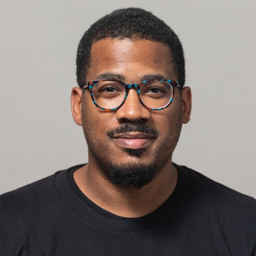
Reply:
[[[1,1],[0,194],[87,162],[71,116],[80,37],[120,7],[153,11],[179,35],[191,121],[174,161],[256,197],[253,1]]]

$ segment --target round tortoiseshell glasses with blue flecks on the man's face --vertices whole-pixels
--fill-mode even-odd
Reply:
[[[94,80],[86,83],[83,89],[90,89],[93,103],[104,111],[119,109],[127,98],[128,91],[136,88],[140,103],[147,109],[159,111],[166,109],[174,99],[178,81],[146,80],[141,83],[124,83],[118,80]]]

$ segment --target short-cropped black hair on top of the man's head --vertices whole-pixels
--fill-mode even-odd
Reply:
[[[178,36],[152,12],[141,8],[122,8],[95,22],[82,36],[76,57],[76,77],[80,88],[86,83],[91,65],[91,48],[104,38],[148,39],[162,42],[170,48],[174,71],[181,88],[185,83],[185,59]]]

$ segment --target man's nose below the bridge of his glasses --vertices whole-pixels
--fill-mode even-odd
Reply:
[[[151,118],[151,112],[140,103],[137,89],[131,88],[128,92],[124,104],[116,112],[116,119],[119,122],[129,120],[131,122],[148,121]]]

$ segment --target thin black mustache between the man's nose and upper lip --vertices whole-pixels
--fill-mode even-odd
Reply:
[[[158,135],[158,130],[154,129],[153,127],[147,126],[144,123],[123,123],[115,129],[111,129],[110,131],[106,132],[106,134],[113,138],[115,135],[120,133],[131,133],[131,132],[139,132],[139,133],[146,133],[151,135]]]

